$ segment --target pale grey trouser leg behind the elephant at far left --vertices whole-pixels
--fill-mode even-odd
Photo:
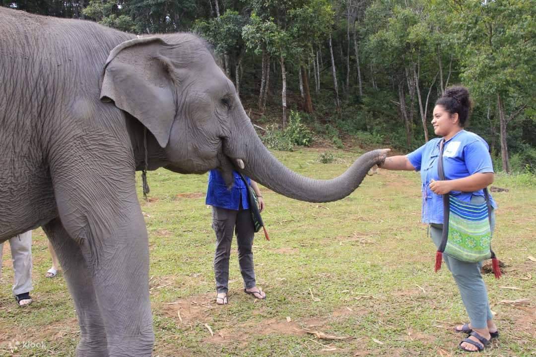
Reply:
[[[18,295],[33,290],[32,286],[32,231],[28,231],[9,240],[15,283],[13,294]],[[0,267],[4,244],[0,244]]]

